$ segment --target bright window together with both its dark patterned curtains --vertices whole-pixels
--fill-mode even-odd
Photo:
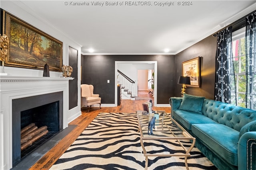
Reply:
[[[256,13],[246,17],[246,27],[236,32],[232,33],[231,26],[218,32],[214,93],[217,101],[254,110],[256,110],[255,18]]]

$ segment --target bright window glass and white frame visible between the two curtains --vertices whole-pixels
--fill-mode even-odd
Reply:
[[[236,95],[232,104],[245,107],[246,93],[246,55],[245,55],[245,27],[234,32],[232,35],[232,52],[236,80]],[[233,94],[235,94],[233,92]],[[235,103],[236,100],[236,103]]]

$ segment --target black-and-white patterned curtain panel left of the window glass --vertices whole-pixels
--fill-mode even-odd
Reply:
[[[215,100],[236,104],[232,27],[220,31],[217,35]]]

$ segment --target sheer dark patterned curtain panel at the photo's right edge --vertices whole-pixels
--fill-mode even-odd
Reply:
[[[256,109],[256,13],[246,18],[246,107]]]

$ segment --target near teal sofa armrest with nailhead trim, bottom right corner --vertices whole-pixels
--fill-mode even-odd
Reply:
[[[256,131],[244,133],[238,142],[238,170],[256,167]]]

